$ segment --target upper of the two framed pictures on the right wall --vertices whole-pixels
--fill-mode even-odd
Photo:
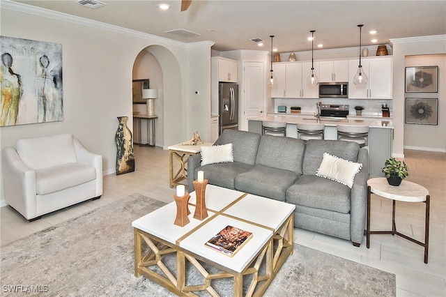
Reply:
[[[406,93],[437,93],[438,66],[406,67]]]

